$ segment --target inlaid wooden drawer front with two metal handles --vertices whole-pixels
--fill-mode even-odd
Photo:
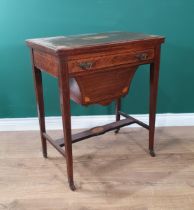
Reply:
[[[114,55],[92,56],[87,58],[70,60],[69,72],[83,72],[103,69],[107,67],[126,65],[131,63],[143,63],[154,58],[154,49],[130,51]]]

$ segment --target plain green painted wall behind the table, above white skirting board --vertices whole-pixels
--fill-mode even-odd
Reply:
[[[25,39],[115,30],[166,36],[158,112],[194,112],[193,0],[1,0],[0,117],[36,116]],[[148,78],[148,66],[141,67],[124,99],[124,111],[148,112]],[[47,115],[59,115],[57,82],[47,75],[44,82]],[[114,110],[113,105],[72,105],[73,115],[112,114]]]

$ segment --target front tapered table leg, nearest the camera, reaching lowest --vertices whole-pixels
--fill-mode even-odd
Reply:
[[[67,163],[67,175],[71,190],[75,190],[73,181],[73,157],[72,157],[72,136],[71,136],[71,110],[70,110],[70,90],[69,75],[66,63],[61,62],[59,68],[59,92],[60,105],[63,123],[65,156]]]

